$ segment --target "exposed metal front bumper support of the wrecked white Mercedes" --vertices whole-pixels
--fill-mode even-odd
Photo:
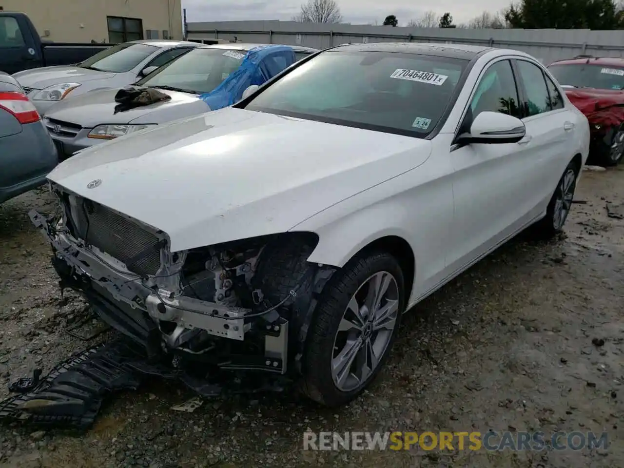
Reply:
[[[245,330],[250,323],[245,323],[244,316],[251,310],[187,296],[170,298],[167,291],[158,293],[137,281],[136,276],[114,270],[89,249],[56,233],[46,217],[35,210],[29,216],[52,245],[52,264],[61,278],[61,288],[80,291],[103,321],[142,344],[150,358],[157,358],[161,353],[163,339],[170,349],[175,348],[172,339],[160,332],[158,319],[175,321],[185,328],[203,329],[219,338],[245,340]],[[288,321],[276,313],[258,316],[257,320],[263,323],[259,333],[264,339],[265,353],[253,356],[228,354],[217,363],[219,368],[286,373]]]

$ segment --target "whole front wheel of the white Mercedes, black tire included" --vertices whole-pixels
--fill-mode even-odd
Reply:
[[[369,285],[379,283],[388,283],[386,294],[382,295],[380,310],[385,307],[393,312],[385,321],[381,313],[366,321],[362,318],[366,318],[368,309],[361,305],[366,299],[369,304],[373,303],[370,300],[372,296],[368,296]],[[353,300],[360,305],[358,309],[362,321],[356,319],[353,307],[348,308],[353,305]],[[353,258],[334,273],[319,298],[306,340],[303,361],[305,394],[330,407],[340,406],[358,396],[377,376],[388,358],[399,329],[405,300],[401,267],[389,253],[373,252]],[[361,326],[364,322],[366,324]],[[348,331],[341,329],[345,323],[349,325],[344,327],[349,328]],[[361,329],[356,329],[356,323]],[[390,326],[392,328],[388,329]],[[358,334],[359,338],[356,338]],[[359,352],[346,353],[356,348],[358,339]],[[348,359],[341,360],[341,356],[354,356],[351,360],[353,364],[336,365],[337,371],[333,372],[334,364],[348,362]],[[347,369],[346,373],[344,369]],[[356,374],[359,374],[359,379]]]

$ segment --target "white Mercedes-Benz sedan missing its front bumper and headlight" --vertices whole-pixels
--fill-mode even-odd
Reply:
[[[336,406],[404,311],[525,228],[562,230],[588,147],[523,52],[345,45],[79,152],[49,174],[59,215],[31,218],[61,284],[185,383],[273,373]]]

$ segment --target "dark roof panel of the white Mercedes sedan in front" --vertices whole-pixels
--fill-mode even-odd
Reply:
[[[422,54],[427,56],[449,57],[453,59],[472,59],[492,47],[464,46],[463,44],[436,44],[434,42],[371,42],[370,44],[343,44],[332,47],[329,51],[361,52],[402,52],[404,54]]]

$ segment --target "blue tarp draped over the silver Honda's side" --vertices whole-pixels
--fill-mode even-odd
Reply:
[[[246,53],[238,70],[230,74],[211,92],[199,96],[212,110],[232,105],[243,91],[261,85],[296,62],[295,51],[288,46],[258,46]]]

